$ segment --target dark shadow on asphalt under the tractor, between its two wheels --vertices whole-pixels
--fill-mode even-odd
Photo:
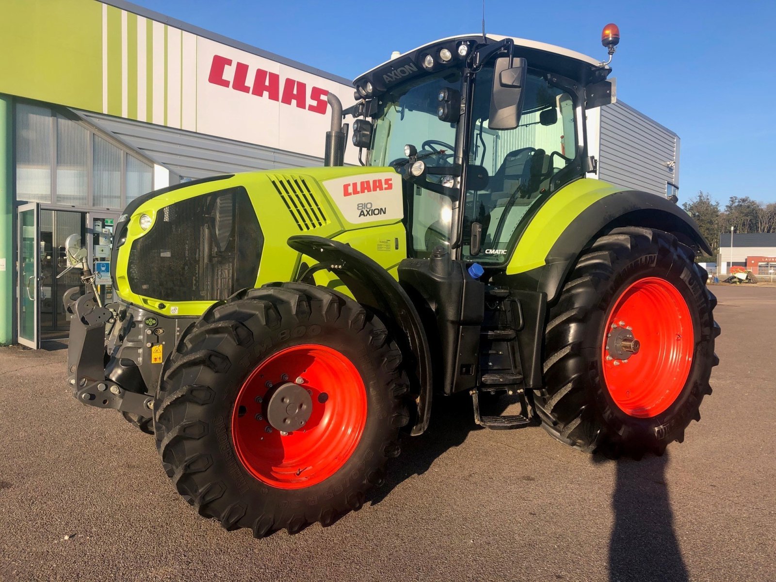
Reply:
[[[394,487],[414,475],[422,475],[445,451],[466,440],[479,427],[474,422],[472,400],[468,393],[444,397],[435,394],[428,429],[418,437],[404,436],[400,462],[391,462],[385,483],[367,494],[366,501],[379,504]]]

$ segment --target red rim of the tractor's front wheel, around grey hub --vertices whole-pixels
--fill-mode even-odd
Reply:
[[[312,412],[303,428],[282,435],[267,421],[267,402],[285,382],[310,393]],[[232,412],[232,439],[256,479],[300,489],[334,475],[353,454],[365,424],[366,390],[355,365],[325,345],[295,345],[265,359],[245,380]]]

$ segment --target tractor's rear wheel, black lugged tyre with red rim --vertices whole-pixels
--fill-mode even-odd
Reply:
[[[682,442],[719,362],[707,279],[673,234],[629,227],[598,238],[549,311],[545,386],[534,391],[543,428],[610,458]]]

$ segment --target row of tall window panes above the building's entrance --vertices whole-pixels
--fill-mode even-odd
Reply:
[[[16,199],[122,210],[153,189],[154,168],[91,126],[16,104]]]

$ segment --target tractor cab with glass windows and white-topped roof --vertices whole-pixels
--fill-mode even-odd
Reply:
[[[404,177],[408,252],[508,261],[532,211],[594,170],[584,110],[614,99],[605,64],[507,36],[428,43],[355,80],[353,144]]]

